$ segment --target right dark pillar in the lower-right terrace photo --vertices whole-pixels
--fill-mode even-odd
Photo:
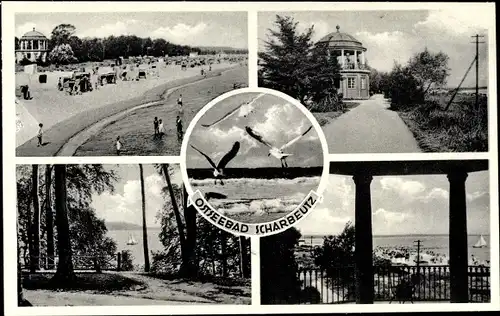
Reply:
[[[467,254],[467,207],[463,171],[448,174],[450,182],[450,297],[452,303],[469,301]]]

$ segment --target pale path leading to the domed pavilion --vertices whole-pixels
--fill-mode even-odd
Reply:
[[[418,153],[413,134],[382,95],[361,104],[323,126],[330,154]]]

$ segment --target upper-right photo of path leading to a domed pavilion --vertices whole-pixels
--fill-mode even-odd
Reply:
[[[488,151],[488,19],[468,10],[259,12],[259,87],[330,154]]]

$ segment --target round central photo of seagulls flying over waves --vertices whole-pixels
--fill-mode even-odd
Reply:
[[[247,92],[223,99],[193,122],[186,168],[194,191],[214,191],[210,204],[244,223],[292,212],[323,172],[322,144],[309,118],[287,100]]]

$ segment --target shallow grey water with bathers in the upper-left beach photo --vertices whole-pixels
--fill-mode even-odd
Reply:
[[[183,130],[210,100],[233,90],[234,83],[248,84],[245,67],[227,70],[221,76],[188,84],[159,102],[157,105],[133,111],[123,118],[111,121],[81,145],[75,156],[115,155],[114,143],[117,136],[123,144],[122,155],[179,155],[181,142],[177,139],[176,117],[182,118]],[[177,98],[182,94],[183,109],[179,113]],[[165,135],[154,138],[153,119],[164,122]]]

